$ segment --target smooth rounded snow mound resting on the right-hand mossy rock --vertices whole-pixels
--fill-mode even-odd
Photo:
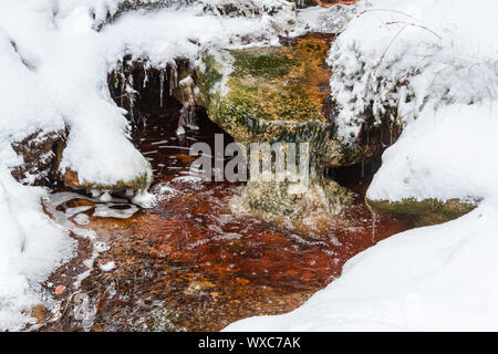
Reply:
[[[383,155],[367,190],[372,200],[498,196],[498,102],[423,111]]]

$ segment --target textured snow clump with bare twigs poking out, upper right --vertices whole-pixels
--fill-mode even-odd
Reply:
[[[492,0],[360,2],[329,58],[338,137],[354,142],[369,108],[377,123],[387,114],[404,124],[422,110],[495,100],[497,10]]]

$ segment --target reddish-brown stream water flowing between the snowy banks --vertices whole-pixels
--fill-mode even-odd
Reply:
[[[222,132],[203,119],[199,133],[178,139],[172,118],[177,107],[170,104],[170,112],[149,112],[134,139],[154,167],[162,202],[126,219],[94,216],[102,204],[83,196],[56,206],[66,212],[87,206],[75,214],[87,216],[79,227],[96,231],[110,249],[98,253],[81,285],[74,284],[92,253],[92,241],[74,236],[81,240],[79,257],[61,267],[48,288],[54,293],[65,287],[54,295],[61,309],[45,316],[41,330],[211,331],[251,315],[288,312],[339,277],[347,259],[407,228],[381,217],[374,226],[363,204],[370,177],[361,178],[359,168],[336,176],[359,192],[356,204],[331,217],[322,231],[232,216],[229,200],[241,184],[177,179],[188,174],[188,146],[212,144],[214,134]],[[113,208],[129,207],[117,201]],[[110,261],[114,269],[100,269]]]

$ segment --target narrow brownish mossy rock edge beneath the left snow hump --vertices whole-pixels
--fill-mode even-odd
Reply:
[[[129,180],[118,180],[113,185],[104,185],[90,183],[86,180],[81,181],[77,173],[72,169],[65,169],[64,173],[64,186],[73,189],[98,189],[98,190],[123,190],[123,189],[147,189],[153,181],[153,177],[147,173]]]

